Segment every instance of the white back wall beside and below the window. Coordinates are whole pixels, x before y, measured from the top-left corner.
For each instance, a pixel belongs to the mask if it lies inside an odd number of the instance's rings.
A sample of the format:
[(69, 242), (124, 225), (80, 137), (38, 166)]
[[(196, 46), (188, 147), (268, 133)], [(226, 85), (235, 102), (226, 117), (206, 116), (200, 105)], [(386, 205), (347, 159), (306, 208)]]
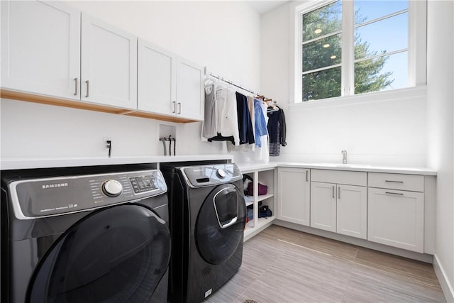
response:
[[(287, 146), (279, 159), (426, 166), (426, 92), (292, 104), (294, 3), (262, 16), (262, 92), (279, 101)], [(290, 105), (289, 105), (290, 104)]]

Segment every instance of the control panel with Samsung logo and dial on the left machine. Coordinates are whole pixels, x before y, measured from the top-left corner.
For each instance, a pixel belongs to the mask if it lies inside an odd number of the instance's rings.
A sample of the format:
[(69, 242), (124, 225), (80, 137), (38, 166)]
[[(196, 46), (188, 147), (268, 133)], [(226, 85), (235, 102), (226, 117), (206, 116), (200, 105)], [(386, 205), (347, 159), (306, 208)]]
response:
[(167, 192), (160, 170), (18, 180), (9, 188), (18, 219), (136, 202)]

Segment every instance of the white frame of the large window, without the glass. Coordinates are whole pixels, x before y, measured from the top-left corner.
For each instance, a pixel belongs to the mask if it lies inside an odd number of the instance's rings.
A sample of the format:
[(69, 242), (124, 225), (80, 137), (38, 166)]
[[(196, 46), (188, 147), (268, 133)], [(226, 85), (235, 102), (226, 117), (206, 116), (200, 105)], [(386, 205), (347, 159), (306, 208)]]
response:
[[(342, 62), (341, 62), (341, 97), (332, 97), (327, 99), (316, 99), (309, 101), (302, 101), (302, 16), (304, 13), (309, 13), (315, 9), (319, 9), (328, 4), (332, 4), (337, 0), (308, 0), (303, 4), (294, 4), (293, 20), (294, 26), (291, 31), (294, 31), (294, 48), (293, 50), (294, 60), (293, 67), (293, 79), (294, 81), (290, 84), (290, 96), (294, 96), (294, 104), (310, 104), (316, 101), (333, 101), (338, 104), (339, 100), (342, 99), (353, 99), (361, 102), (365, 99), (376, 99), (373, 97), (375, 94), (384, 94), (389, 96), (389, 92), (399, 91), (399, 95), (402, 92), (411, 91), (415, 87), (426, 85), (426, 0), (409, 0), (409, 24), (408, 24), (408, 82), (409, 85), (402, 89), (388, 89), (379, 92), (367, 92), (362, 94), (354, 94), (354, 41), (353, 33), (355, 30), (354, 24), (354, 2), (351, 0), (342, 0), (343, 16), (348, 14), (350, 18), (342, 18)], [(399, 1), (399, 0), (397, 0)], [(292, 64), (291, 63), (291, 64)], [(411, 92), (410, 92), (411, 94)], [(371, 96), (371, 97), (370, 97)], [(359, 98), (362, 97), (362, 98)], [(292, 103), (292, 102), (291, 102)], [(350, 103), (350, 102), (349, 102)]]

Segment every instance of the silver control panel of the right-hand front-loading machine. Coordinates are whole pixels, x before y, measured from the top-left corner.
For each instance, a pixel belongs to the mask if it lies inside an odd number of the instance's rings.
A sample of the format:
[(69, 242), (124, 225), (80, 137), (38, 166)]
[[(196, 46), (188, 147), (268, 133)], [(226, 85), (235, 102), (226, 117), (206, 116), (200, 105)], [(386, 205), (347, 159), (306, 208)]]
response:
[(205, 187), (243, 179), (234, 163), (181, 167), (181, 171), (189, 187)]

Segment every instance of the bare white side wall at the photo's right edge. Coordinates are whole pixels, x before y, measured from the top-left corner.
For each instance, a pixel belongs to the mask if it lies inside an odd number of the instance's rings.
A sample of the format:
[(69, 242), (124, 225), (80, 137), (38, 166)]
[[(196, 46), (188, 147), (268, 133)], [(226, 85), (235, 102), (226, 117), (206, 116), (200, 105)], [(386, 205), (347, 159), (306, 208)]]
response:
[(448, 302), (454, 302), (453, 16), (453, 1), (428, 1), (428, 165), (438, 170), (436, 262)]

